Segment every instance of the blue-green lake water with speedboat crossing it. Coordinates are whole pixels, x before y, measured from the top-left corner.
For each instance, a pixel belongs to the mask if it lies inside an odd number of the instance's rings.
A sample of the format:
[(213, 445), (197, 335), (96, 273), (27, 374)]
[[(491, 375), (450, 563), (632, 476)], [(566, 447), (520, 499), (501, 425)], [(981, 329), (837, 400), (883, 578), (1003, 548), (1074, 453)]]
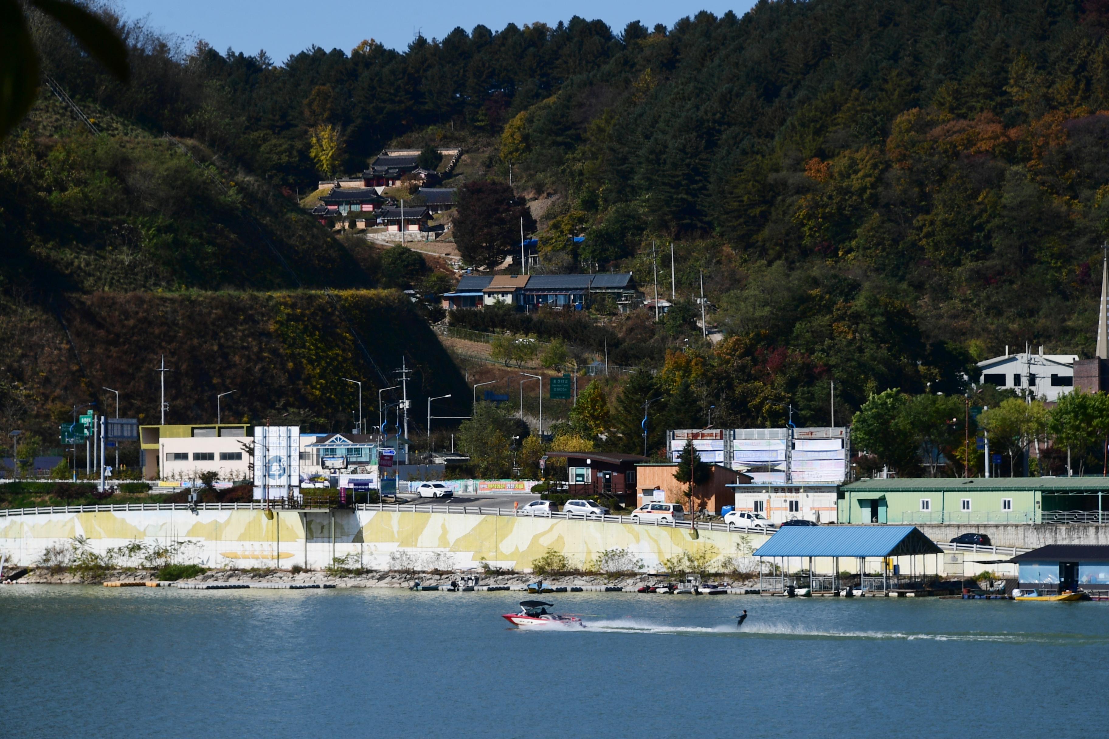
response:
[[(0, 736), (1079, 737), (1109, 604), (0, 588)], [(535, 597), (535, 596), (532, 596)], [(750, 613), (736, 632), (734, 616)]]

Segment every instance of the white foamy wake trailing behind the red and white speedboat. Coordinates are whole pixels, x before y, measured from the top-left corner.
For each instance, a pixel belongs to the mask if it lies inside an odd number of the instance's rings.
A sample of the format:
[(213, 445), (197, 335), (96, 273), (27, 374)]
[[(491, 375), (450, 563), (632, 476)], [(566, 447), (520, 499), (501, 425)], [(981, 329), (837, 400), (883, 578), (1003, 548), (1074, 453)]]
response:
[(736, 628), (734, 623), (718, 626), (678, 626), (660, 624), (650, 620), (617, 618), (608, 620), (587, 620), (587, 632), (611, 632), (623, 634), (693, 634), (721, 635), (742, 638), (784, 638), (784, 639), (843, 639), (868, 642), (988, 642), (997, 644), (1065, 644), (1065, 645), (1109, 645), (1109, 637), (1087, 634), (1036, 634), (1009, 632), (991, 634), (985, 632), (965, 632), (948, 634), (929, 634), (912, 632), (878, 632), (878, 630), (835, 630), (806, 628), (793, 624), (751, 623)]

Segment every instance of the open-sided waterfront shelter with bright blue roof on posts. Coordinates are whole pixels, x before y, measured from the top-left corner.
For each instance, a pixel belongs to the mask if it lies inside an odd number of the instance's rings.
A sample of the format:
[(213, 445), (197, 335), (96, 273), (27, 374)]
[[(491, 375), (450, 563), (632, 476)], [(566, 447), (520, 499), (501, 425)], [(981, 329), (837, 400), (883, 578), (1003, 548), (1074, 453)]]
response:
[[(814, 592), (838, 591), (840, 561), (844, 557), (856, 561), (864, 591), (888, 591), (892, 583), (912, 582), (927, 574), (929, 554), (935, 555), (933, 572), (938, 574), (942, 553), (916, 526), (783, 526), (755, 550), (754, 556), (759, 557), (759, 588), (763, 592), (780, 592), (791, 585)], [(894, 562), (903, 557), (908, 558), (908, 573), (903, 572), (901, 562)], [(767, 560), (769, 576), (764, 567)], [(796, 560), (800, 566), (791, 577), (790, 566)], [(881, 562), (881, 573), (868, 575), (867, 565), (873, 567), (874, 560)], [(825, 568), (825, 574), (817, 575), (815, 568), (821, 564), (831, 565), (831, 573)]]

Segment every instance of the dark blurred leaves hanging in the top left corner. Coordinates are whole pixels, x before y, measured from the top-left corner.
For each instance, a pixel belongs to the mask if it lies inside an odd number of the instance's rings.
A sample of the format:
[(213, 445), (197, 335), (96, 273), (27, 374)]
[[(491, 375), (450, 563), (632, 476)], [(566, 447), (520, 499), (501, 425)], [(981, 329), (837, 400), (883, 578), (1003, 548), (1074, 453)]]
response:
[[(128, 48), (100, 18), (64, 0), (30, 4), (69, 30), (121, 82), (131, 78)], [(23, 120), (39, 91), (39, 57), (19, 0), (0, 0), (0, 138)]]

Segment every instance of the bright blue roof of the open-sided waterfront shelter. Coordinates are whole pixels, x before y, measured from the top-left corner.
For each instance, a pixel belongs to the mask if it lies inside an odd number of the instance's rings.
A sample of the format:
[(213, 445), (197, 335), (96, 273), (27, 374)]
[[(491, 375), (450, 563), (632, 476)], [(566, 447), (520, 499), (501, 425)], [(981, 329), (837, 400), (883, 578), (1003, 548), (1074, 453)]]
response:
[(943, 552), (916, 526), (783, 526), (756, 557), (896, 557)]

